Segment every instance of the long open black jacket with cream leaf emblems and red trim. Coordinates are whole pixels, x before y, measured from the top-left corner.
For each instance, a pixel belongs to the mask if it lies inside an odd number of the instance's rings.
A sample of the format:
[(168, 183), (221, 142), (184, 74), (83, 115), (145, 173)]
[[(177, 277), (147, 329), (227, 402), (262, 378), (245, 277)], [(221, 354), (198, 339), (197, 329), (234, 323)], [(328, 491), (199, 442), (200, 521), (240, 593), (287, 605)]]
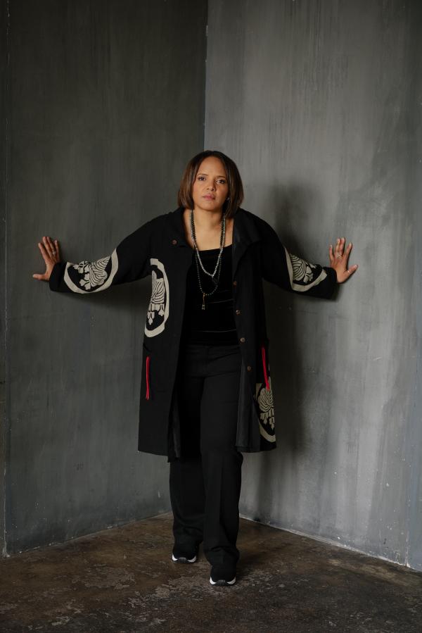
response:
[[(182, 207), (158, 215), (122, 240), (111, 255), (94, 262), (59, 262), (51, 290), (91, 294), (151, 275), (151, 301), (143, 337), (138, 450), (180, 455), (174, 383), (184, 316), (186, 274), (193, 249), (186, 241)], [(274, 229), (238, 208), (234, 215), (232, 280), (234, 318), (243, 357), (236, 446), (240, 451), (274, 449), (274, 403), (262, 279), (290, 292), (328, 299), (337, 282), (333, 268), (288, 253)]]

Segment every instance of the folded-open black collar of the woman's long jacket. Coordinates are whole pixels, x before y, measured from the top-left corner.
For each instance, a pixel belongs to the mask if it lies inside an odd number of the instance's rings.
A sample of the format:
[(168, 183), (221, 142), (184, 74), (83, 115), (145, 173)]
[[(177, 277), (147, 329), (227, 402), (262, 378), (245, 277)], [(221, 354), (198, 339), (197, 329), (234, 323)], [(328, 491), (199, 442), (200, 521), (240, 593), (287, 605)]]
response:
[[(184, 232), (183, 221), (184, 207), (180, 206), (174, 211), (168, 213), (170, 223), (170, 239), (177, 239), (177, 246), (184, 246), (190, 251), (193, 251), (191, 246), (186, 241)], [(238, 211), (234, 215), (233, 225), (233, 249), (232, 249), (232, 272), (233, 277), (236, 275), (236, 270), (243, 253), (253, 242), (258, 242), (261, 239), (260, 233), (257, 230), (256, 224), (253, 221), (253, 215), (250, 211), (239, 207)]]

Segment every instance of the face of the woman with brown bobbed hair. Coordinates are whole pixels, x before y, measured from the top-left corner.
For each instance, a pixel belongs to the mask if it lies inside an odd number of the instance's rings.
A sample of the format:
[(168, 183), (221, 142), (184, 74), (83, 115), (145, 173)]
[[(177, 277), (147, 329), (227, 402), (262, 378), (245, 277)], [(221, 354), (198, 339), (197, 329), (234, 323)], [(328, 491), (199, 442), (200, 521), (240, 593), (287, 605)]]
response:
[(224, 165), (217, 156), (207, 156), (199, 165), (192, 187), (193, 203), (203, 211), (222, 211), (229, 195)]

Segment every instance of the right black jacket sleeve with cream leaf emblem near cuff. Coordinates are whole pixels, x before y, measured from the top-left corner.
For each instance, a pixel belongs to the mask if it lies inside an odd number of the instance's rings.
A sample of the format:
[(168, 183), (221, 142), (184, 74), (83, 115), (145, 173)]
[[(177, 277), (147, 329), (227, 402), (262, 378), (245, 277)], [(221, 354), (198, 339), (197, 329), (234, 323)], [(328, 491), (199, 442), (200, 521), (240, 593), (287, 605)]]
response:
[(289, 253), (271, 225), (262, 222), (262, 277), (289, 292), (330, 299), (337, 285), (335, 270)]

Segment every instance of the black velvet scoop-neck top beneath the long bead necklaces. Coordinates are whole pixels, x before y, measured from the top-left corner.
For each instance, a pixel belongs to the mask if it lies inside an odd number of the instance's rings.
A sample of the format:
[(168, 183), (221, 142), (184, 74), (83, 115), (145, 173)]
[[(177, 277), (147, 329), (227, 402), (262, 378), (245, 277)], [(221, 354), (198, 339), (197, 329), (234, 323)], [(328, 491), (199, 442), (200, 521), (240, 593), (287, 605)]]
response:
[[(219, 249), (199, 251), (205, 270), (213, 272)], [(206, 345), (232, 345), (238, 343), (236, 323), (233, 313), (233, 287), (231, 283), (231, 244), (224, 246), (222, 268), (218, 287), (211, 295), (205, 295), (205, 310), (202, 309), (203, 296), (198, 284), (196, 255), (192, 251), (192, 263), (186, 277), (186, 301), (181, 341)], [(204, 292), (211, 292), (214, 285), (211, 277), (205, 275), (198, 262), (200, 284)]]

